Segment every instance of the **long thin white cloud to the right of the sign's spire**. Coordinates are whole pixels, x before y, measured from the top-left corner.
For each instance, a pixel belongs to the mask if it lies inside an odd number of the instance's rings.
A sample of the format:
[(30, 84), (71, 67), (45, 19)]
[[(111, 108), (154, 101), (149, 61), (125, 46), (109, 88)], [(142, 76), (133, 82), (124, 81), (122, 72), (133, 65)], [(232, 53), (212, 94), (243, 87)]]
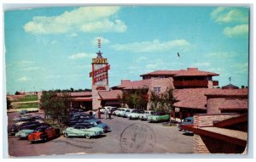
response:
[(116, 51), (128, 51), (131, 53), (159, 53), (169, 51), (173, 48), (186, 49), (191, 47), (191, 45), (186, 40), (179, 39), (167, 42), (160, 42), (159, 40), (152, 42), (132, 42), (127, 44), (115, 44), (111, 47)]

